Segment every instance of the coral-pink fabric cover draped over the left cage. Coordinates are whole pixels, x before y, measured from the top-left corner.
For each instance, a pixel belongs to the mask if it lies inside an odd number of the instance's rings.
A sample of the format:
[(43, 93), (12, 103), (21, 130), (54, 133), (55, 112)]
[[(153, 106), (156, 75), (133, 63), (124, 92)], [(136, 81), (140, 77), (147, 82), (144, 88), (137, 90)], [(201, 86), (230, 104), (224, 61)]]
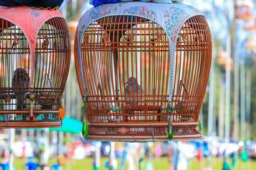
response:
[[(58, 10), (34, 10), (24, 6), (7, 7), (0, 6), (0, 18), (8, 20), (12, 24), (17, 25), (25, 34), (28, 39), (30, 48), (30, 68), (31, 72), (29, 77), (31, 78), (30, 86), (33, 88), (34, 85), (34, 71), (35, 71), (35, 48), (36, 48), (36, 36), (42, 25), (54, 17), (61, 17), (60, 11)], [(20, 17), (22, 16), (22, 17)], [(1, 25), (1, 29), (10, 27), (8, 23)], [(0, 30), (1, 30), (0, 29)], [(3, 30), (1, 30), (3, 31)]]

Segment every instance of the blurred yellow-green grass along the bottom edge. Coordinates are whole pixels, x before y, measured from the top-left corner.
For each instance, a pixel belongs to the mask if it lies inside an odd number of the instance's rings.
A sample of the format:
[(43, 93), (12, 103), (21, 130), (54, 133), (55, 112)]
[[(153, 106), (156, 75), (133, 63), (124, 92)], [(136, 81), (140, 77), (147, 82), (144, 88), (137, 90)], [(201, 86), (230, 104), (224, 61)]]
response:
[[(108, 158), (104, 157), (101, 159), (101, 170), (107, 170), (107, 168), (104, 167), (105, 162), (108, 160)], [(23, 170), (25, 169), (24, 164), (27, 160), (22, 159), (15, 159), (15, 168), (17, 170)], [(147, 159), (143, 160), (142, 162), (142, 169), (145, 169), (147, 164)], [(197, 170), (197, 169), (203, 169), (204, 167), (207, 167), (207, 159), (204, 159), (204, 162), (201, 164), (196, 159), (191, 159), (189, 163), (189, 169), (188, 170)], [(56, 163), (56, 160), (50, 160), (49, 165), (52, 165)], [(231, 160), (228, 162), (231, 165)], [(170, 164), (168, 163), (167, 157), (161, 157), (157, 159), (152, 160), (152, 164), (154, 167), (154, 170), (169, 170)], [(223, 159), (221, 158), (211, 158), (209, 159), (209, 164), (211, 165), (213, 170), (222, 170), (223, 165)], [(120, 159), (118, 159), (118, 167), (120, 165)], [(230, 166), (231, 167), (231, 166)], [(39, 169), (39, 168), (38, 168)], [(91, 170), (93, 169), (93, 158), (86, 158), (83, 160), (72, 160), (72, 162), (68, 162), (66, 166), (62, 168), (63, 170)], [(117, 168), (119, 169), (119, 168)], [(127, 169), (127, 168), (125, 168)], [(248, 162), (244, 163), (241, 160), (237, 160), (237, 166), (235, 168), (231, 169), (237, 169), (237, 170), (254, 170), (256, 169), (256, 161), (255, 160), (248, 160)]]

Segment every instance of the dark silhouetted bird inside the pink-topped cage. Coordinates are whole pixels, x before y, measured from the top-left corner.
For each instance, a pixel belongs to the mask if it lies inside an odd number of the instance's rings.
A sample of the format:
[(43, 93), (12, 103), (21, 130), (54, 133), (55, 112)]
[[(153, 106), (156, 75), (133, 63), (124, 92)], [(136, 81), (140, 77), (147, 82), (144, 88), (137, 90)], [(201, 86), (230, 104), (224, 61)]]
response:
[(26, 93), (29, 90), (30, 78), (26, 69), (17, 68), (13, 72), (12, 78), (12, 90), (17, 99), (17, 110), (23, 110), (26, 108)]

